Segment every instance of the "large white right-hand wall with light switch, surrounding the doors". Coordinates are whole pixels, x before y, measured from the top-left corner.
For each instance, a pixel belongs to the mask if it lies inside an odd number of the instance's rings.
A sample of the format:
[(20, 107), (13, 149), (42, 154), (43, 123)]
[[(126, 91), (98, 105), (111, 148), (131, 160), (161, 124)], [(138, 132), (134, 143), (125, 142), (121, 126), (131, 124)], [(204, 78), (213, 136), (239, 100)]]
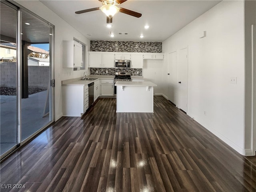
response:
[[(207, 36), (199, 38), (203, 31)], [(165, 40), (163, 52), (186, 46), (188, 115), (245, 154), (244, 1), (220, 2)]]

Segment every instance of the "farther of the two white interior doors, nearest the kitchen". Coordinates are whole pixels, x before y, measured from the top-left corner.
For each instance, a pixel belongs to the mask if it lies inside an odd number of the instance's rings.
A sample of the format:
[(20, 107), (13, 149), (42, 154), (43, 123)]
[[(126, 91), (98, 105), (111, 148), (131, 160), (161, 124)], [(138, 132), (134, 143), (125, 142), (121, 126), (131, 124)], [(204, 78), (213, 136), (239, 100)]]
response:
[(178, 66), (177, 52), (168, 54), (168, 99), (174, 104), (178, 104)]

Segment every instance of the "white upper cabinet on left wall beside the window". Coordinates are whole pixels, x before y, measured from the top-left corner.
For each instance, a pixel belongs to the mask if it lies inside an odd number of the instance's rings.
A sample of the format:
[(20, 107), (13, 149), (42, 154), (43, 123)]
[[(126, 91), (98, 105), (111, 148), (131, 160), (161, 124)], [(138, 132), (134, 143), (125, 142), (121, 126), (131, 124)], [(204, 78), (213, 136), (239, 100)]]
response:
[(63, 67), (82, 67), (82, 44), (76, 41), (63, 41)]

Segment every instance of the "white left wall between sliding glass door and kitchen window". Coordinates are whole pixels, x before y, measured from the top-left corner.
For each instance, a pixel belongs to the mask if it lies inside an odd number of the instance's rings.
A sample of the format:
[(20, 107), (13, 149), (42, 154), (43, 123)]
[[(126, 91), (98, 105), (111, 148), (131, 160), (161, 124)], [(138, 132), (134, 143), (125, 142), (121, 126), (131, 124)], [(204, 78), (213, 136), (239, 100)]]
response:
[(55, 48), (54, 48), (54, 75), (55, 75), (55, 120), (62, 117), (62, 88), (61, 81), (66, 79), (82, 77), (84, 70), (73, 71), (72, 68), (62, 68), (62, 41), (73, 40), (76, 38), (80, 42), (90, 48), (90, 40), (83, 36), (80, 32), (70, 26), (67, 22), (62, 20), (58, 15), (52, 12), (49, 8), (44, 6), (38, 0), (15, 0), (24, 8), (30, 10), (34, 14), (40, 16), (44, 20), (50, 22), (55, 26)]

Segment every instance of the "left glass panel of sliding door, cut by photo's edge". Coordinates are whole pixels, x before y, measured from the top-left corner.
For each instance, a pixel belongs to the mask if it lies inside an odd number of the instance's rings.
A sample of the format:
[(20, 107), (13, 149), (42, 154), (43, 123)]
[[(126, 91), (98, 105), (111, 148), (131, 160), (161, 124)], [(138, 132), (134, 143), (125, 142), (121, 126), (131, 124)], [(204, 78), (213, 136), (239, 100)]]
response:
[(0, 151), (17, 145), (17, 16), (18, 9), (0, 6)]

